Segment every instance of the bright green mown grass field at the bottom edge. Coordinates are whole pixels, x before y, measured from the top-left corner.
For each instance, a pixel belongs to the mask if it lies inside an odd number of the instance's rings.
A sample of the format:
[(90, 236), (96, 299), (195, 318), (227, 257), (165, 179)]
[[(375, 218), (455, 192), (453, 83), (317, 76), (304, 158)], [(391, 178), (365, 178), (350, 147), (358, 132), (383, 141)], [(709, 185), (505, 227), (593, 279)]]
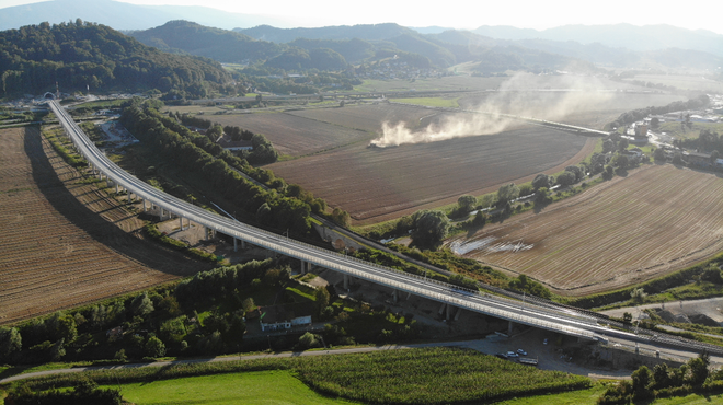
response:
[[(117, 389), (117, 385), (105, 385)], [(126, 401), (141, 404), (355, 404), (317, 394), (290, 371), (256, 371), (122, 384)]]

